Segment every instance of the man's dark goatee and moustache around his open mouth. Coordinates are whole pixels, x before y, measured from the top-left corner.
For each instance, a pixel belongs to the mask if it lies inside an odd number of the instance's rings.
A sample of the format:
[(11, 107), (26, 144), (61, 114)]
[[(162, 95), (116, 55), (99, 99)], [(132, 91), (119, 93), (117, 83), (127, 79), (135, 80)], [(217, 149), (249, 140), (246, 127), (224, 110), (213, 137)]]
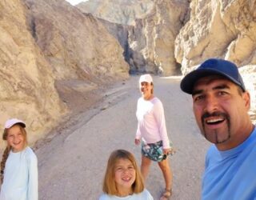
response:
[[(208, 139), (207, 137), (207, 134), (206, 134), (206, 128), (205, 128), (205, 118), (210, 118), (210, 117), (222, 117), (222, 118), (225, 118), (226, 119), (226, 122), (227, 122), (227, 137), (222, 139), (222, 140), (219, 140), (218, 138), (218, 130), (212, 130), (214, 131), (214, 133), (210, 133), (210, 134), (214, 134), (215, 136), (215, 142), (213, 142), (214, 144), (221, 144), (223, 142), (226, 142), (227, 140), (230, 139), (230, 136), (231, 136), (231, 132), (230, 132), (230, 117), (229, 115), (227, 114), (224, 114), (224, 113), (221, 113), (221, 112), (214, 112), (212, 114), (209, 114), (208, 112), (206, 112), (205, 114), (202, 115), (202, 118), (201, 118), (201, 122), (202, 122), (202, 134), (204, 135), (204, 137), (210, 141), (210, 139)], [(212, 141), (210, 141), (212, 142)]]

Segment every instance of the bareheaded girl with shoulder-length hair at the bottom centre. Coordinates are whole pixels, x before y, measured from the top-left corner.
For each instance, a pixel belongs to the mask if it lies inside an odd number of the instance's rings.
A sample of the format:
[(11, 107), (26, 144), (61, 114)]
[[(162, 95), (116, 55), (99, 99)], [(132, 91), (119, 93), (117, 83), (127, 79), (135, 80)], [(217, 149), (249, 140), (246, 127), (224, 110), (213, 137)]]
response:
[(126, 150), (110, 154), (99, 200), (153, 200), (144, 183), (134, 155)]

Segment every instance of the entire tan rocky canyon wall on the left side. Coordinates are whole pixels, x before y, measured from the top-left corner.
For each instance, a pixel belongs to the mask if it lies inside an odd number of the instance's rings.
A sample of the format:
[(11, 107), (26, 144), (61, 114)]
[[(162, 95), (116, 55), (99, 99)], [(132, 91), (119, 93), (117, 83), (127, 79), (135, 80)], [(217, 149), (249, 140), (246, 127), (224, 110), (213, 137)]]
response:
[(70, 112), (62, 101), (94, 101), (89, 91), (128, 78), (116, 39), (64, 0), (1, 1), (0, 30), (0, 126), (22, 118), (30, 142)]

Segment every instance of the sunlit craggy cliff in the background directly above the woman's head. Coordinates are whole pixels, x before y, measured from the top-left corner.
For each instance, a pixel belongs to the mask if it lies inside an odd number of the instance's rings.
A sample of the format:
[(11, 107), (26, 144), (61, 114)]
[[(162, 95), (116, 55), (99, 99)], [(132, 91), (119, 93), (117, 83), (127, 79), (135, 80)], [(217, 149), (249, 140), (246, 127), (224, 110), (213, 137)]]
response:
[(186, 17), (187, 6), (187, 1), (154, 1), (150, 14), (136, 21), (129, 43), (138, 70), (178, 74), (180, 66), (174, 59), (174, 40)]

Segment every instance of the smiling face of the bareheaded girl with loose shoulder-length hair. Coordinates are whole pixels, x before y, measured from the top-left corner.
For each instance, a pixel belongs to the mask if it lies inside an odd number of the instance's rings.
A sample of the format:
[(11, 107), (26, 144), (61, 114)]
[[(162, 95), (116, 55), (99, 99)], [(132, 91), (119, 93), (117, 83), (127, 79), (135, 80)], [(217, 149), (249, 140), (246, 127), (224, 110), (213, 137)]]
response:
[(129, 159), (119, 159), (114, 166), (114, 181), (118, 192), (129, 192), (136, 178), (136, 173), (132, 162)]

